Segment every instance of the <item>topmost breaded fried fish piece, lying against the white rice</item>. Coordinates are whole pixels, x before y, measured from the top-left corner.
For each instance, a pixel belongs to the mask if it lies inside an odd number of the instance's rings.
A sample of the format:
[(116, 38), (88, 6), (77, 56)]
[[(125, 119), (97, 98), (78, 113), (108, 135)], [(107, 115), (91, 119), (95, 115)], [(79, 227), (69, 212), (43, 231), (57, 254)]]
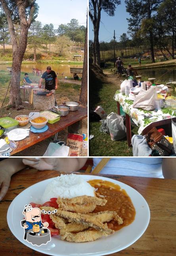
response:
[(107, 200), (105, 198), (98, 198), (96, 196), (77, 196), (74, 198), (57, 198), (59, 208), (65, 211), (77, 212), (86, 214), (93, 212), (97, 205), (105, 205)]

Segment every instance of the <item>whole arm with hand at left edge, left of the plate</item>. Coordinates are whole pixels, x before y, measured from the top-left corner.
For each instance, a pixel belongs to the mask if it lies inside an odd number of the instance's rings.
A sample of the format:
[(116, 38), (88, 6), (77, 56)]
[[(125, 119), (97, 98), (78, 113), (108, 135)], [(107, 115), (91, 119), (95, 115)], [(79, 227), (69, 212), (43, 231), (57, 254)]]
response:
[(11, 176), (25, 167), (22, 158), (7, 158), (0, 161), (0, 201), (8, 191)]

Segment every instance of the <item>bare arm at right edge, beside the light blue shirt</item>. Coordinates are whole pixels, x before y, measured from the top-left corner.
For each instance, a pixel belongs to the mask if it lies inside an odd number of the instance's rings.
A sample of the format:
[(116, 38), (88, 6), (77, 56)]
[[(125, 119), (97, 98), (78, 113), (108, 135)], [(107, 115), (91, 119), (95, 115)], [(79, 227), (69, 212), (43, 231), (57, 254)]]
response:
[(162, 171), (165, 179), (176, 179), (176, 158), (163, 158)]

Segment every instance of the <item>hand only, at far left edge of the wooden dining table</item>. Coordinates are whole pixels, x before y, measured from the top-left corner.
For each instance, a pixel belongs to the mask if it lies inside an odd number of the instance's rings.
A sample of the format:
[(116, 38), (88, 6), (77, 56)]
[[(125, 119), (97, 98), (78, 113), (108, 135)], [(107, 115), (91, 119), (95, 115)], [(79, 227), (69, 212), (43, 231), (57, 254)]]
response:
[(6, 195), (10, 185), (11, 175), (7, 170), (0, 171), (0, 201)]

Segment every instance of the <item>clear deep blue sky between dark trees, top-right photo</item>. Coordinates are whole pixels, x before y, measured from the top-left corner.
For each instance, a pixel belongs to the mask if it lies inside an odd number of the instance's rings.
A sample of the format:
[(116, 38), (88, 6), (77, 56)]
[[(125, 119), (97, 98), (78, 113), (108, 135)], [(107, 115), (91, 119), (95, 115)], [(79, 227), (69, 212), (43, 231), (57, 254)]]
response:
[[(119, 38), (123, 33), (127, 33), (128, 31), (128, 21), (126, 18), (129, 18), (129, 13), (126, 12), (124, 0), (121, 0), (121, 5), (116, 6), (116, 11), (114, 16), (109, 16), (103, 10), (101, 11), (101, 21), (99, 28), (99, 42), (105, 41), (110, 42), (114, 36), (117, 42), (119, 42)], [(93, 25), (92, 21), (89, 19), (89, 39), (93, 40)], [(130, 37), (128, 35), (128, 37)]]

